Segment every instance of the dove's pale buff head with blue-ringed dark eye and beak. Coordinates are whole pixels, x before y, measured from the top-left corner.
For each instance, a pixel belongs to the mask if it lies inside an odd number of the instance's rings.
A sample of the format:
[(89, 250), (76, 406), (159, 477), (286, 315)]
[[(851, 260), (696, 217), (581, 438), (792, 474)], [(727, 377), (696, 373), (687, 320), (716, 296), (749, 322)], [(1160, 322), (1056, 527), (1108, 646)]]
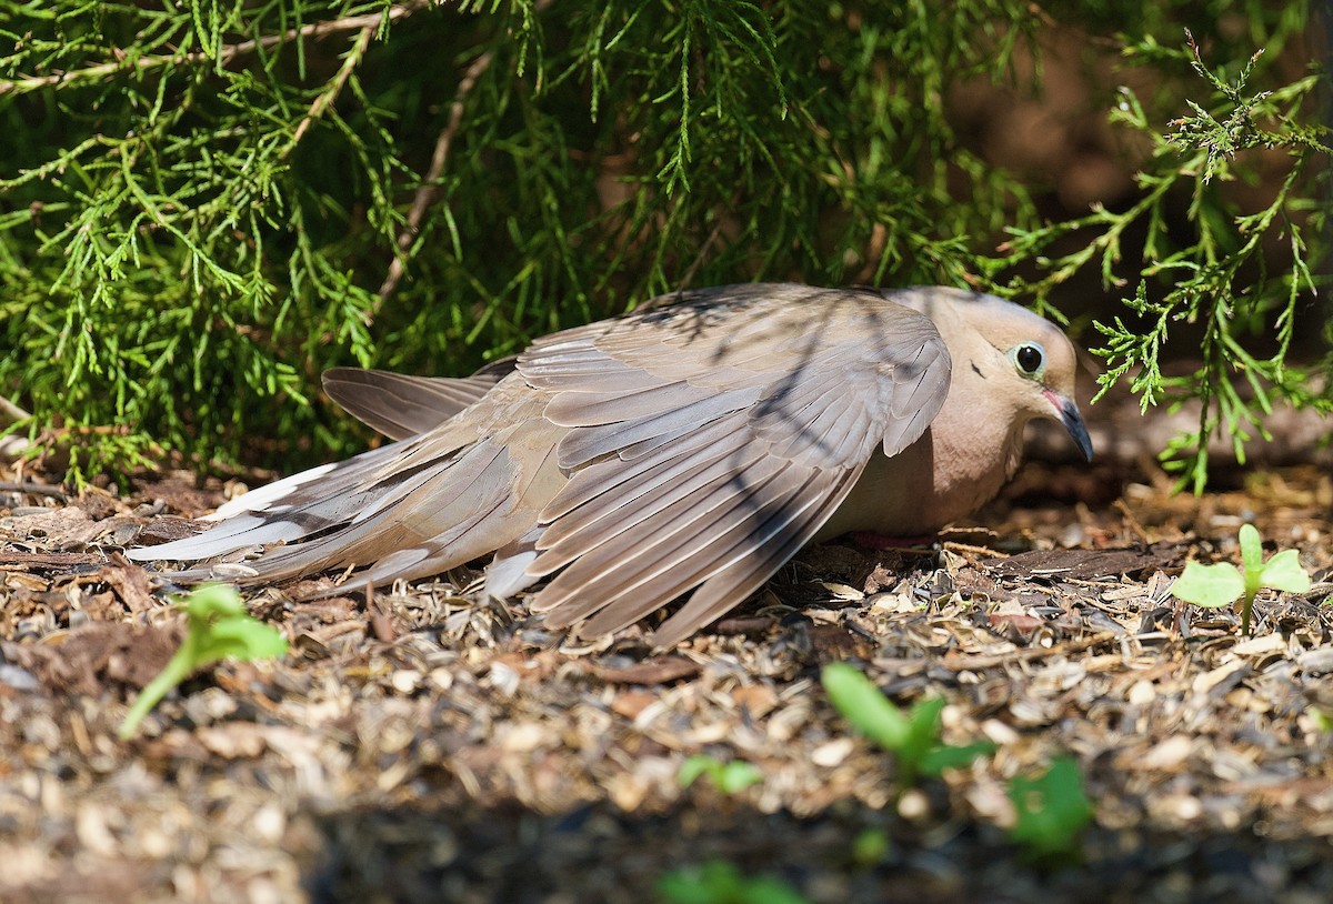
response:
[(1012, 301), (961, 289), (909, 289), (889, 297), (934, 321), (953, 359), (950, 395), (976, 393), (978, 412), (1006, 409), (1020, 424), (1057, 420), (1092, 460), (1092, 440), (1074, 401), (1078, 351), (1056, 324)]

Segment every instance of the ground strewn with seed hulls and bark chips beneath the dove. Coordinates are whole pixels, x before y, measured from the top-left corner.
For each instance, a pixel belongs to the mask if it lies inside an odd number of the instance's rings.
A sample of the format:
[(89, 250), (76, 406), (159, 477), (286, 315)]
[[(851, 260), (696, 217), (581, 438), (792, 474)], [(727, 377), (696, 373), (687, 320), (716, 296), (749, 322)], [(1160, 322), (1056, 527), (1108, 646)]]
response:
[[(128, 743), (183, 616), (120, 551), (231, 488), (0, 480), (11, 904), (651, 901), (706, 864), (830, 904), (1333, 889), (1326, 468), (1214, 475), (1193, 497), (1152, 465), (1032, 465), (984, 527), (924, 551), (806, 549), (668, 653), (641, 628), (577, 643), (521, 600), (480, 604), (467, 569), (315, 603), (267, 588), (249, 609), (291, 653), (205, 668)], [(1238, 560), (1244, 521), (1316, 580), (1261, 593), (1250, 637), (1169, 595), (1186, 560)], [(893, 757), (821, 688), (834, 660), (902, 707), (942, 696), (944, 740), (994, 753), (900, 793)], [(698, 753), (761, 777), (682, 788)], [(1006, 788), (1065, 755), (1094, 816), (1069, 859), (1033, 861)]]

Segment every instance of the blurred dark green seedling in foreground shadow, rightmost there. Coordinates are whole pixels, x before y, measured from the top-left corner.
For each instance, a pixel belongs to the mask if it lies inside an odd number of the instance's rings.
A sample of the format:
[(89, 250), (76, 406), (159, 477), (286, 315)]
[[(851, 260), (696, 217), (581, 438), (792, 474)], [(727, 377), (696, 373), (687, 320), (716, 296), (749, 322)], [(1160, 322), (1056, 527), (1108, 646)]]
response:
[(1017, 815), (1009, 837), (1022, 845), (1030, 861), (1054, 865), (1078, 859), (1078, 839), (1093, 808), (1073, 759), (1054, 760), (1036, 779), (1014, 776), (1009, 800)]

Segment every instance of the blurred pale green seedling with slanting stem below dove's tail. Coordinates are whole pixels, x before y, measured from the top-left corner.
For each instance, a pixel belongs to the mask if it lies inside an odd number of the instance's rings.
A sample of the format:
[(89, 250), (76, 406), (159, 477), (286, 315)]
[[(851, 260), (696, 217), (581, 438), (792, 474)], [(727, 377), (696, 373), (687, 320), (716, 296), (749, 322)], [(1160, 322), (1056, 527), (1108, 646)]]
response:
[(228, 656), (249, 660), (287, 653), (283, 635), (247, 615), (235, 588), (205, 584), (177, 605), (185, 611), (185, 640), (167, 667), (139, 693), (120, 725), (120, 740), (133, 737), (143, 717), (195, 669)]

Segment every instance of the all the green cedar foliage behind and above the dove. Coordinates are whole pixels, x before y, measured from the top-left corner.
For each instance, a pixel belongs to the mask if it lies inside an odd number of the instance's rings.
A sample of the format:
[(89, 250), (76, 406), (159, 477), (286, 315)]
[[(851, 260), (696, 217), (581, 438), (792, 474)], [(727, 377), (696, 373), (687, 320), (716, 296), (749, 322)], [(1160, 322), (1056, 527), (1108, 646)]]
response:
[[(1205, 431), (1326, 404), (1285, 339), (1242, 343), (1289, 336), (1316, 281), (1320, 76), (1269, 64), (1308, 5), (1162, 7), (0, 0), (0, 399), (76, 479), (163, 449), (291, 471), (364, 441), (312, 404), (329, 365), (461, 373), (681, 285), (1045, 301), (1100, 268), (1158, 324), (1098, 327), (1146, 401), (1202, 395)], [(1156, 141), (1128, 209), (1048, 223), (1044, 187), (950, 119), (961, 85), (1018, 84), (1044, 29), (1154, 72), (1152, 97), (1105, 97)], [(1258, 213), (1217, 192), (1257, 147), (1292, 160)], [(1250, 265), (1273, 236), (1289, 260)], [(1217, 325), (1206, 379), (1170, 384), (1182, 319)], [(1256, 401), (1214, 381), (1233, 365)]]

